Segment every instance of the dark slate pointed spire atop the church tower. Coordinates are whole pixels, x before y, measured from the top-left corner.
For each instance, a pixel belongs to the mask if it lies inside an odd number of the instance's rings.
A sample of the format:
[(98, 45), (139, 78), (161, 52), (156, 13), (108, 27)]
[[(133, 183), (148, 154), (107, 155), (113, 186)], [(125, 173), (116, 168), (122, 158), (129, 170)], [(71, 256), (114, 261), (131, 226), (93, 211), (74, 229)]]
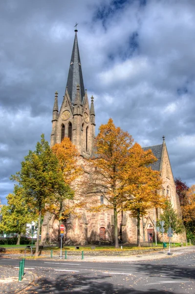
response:
[(74, 45), (72, 49), (70, 67), (66, 84), (66, 87), (68, 87), (67, 90), (72, 101), (72, 104), (74, 104), (74, 100), (76, 98), (77, 85), (80, 86), (81, 101), (83, 101), (83, 97), (85, 96), (85, 88), (83, 83), (83, 74), (81, 69), (81, 60), (77, 41), (77, 29), (75, 29)]

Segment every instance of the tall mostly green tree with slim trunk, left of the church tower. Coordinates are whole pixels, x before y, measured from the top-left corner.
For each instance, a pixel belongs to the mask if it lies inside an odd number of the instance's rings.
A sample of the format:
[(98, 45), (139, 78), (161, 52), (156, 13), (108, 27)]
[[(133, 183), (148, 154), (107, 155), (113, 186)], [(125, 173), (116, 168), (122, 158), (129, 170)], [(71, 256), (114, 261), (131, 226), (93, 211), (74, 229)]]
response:
[(12, 179), (23, 188), (26, 202), (38, 213), (37, 245), (35, 255), (39, 252), (41, 218), (46, 203), (50, 203), (58, 193), (66, 193), (63, 174), (59, 161), (49, 144), (41, 136), (35, 151), (29, 151), (22, 161), (22, 168)]

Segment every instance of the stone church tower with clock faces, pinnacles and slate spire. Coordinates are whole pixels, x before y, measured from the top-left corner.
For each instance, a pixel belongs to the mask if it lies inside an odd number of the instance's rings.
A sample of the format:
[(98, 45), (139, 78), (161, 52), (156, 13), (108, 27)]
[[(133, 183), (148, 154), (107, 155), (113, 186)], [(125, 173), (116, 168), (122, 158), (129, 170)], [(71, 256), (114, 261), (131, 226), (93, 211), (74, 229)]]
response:
[(58, 110), (58, 92), (53, 107), (51, 147), (68, 137), (77, 147), (81, 156), (91, 155), (95, 138), (95, 110), (93, 96), (89, 108), (87, 90), (84, 88), (77, 29), (70, 59), (65, 96)]

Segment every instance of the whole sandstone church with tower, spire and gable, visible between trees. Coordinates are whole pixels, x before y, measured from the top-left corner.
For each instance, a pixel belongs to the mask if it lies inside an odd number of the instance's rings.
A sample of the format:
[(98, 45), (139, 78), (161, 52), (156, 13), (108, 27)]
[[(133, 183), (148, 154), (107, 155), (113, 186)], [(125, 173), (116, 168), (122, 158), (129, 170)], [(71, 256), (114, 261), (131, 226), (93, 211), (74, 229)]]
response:
[[(68, 137), (77, 147), (80, 161), (85, 162), (90, 158), (95, 138), (95, 109), (93, 96), (90, 107), (87, 98), (87, 90), (84, 88), (81, 59), (79, 54), (77, 29), (70, 59), (69, 72), (65, 88), (65, 96), (62, 105), (58, 107), (58, 93), (55, 93), (55, 101), (52, 117), (51, 147), (61, 143), (64, 137)], [(163, 142), (159, 145), (144, 147), (151, 149), (157, 161), (152, 169), (159, 171), (163, 180), (161, 193), (167, 196), (173, 208), (181, 217), (179, 198), (176, 194), (173, 172), (169, 155), (163, 136)], [(100, 203), (104, 203), (103, 196), (99, 196)], [(147, 216), (140, 220), (141, 241), (154, 241), (155, 221), (160, 215), (160, 209), (151, 209)], [(64, 221), (65, 233), (63, 243), (67, 245), (87, 244), (113, 244), (114, 240), (114, 216), (111, 210), (101, 212), (80, 211), (81, 217), (69, 217)], [(164, 234), (167, 235), (167, 234)], [(58, 242), (59, 221), (50, 213), (46, 213), (42, 225), (42, 244), (55, 244)], [(130, 217), (128, 212), (118, 215), (118, 236), (124, 244), (135, 244), (137, 241), (137, 221)], [(173, 242), (185, 240), (185, 233), (173, 235)], [(158, 236), (161, 240), (161, 235)], [(166, 241), (166, 236), (165, 236)]]

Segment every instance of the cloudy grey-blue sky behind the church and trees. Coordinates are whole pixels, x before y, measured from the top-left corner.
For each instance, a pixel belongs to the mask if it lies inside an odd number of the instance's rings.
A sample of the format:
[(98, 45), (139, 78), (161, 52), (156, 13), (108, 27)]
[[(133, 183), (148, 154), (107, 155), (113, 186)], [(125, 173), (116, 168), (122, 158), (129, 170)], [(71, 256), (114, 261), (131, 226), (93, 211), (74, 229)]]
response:
[(78, 26), (96, 134), (111, 117), (142, 147), (165, 136), (174, 177), (195, 184), (194, 0), (0, 1), (0, 199), (45, 134), (50, 141)]

